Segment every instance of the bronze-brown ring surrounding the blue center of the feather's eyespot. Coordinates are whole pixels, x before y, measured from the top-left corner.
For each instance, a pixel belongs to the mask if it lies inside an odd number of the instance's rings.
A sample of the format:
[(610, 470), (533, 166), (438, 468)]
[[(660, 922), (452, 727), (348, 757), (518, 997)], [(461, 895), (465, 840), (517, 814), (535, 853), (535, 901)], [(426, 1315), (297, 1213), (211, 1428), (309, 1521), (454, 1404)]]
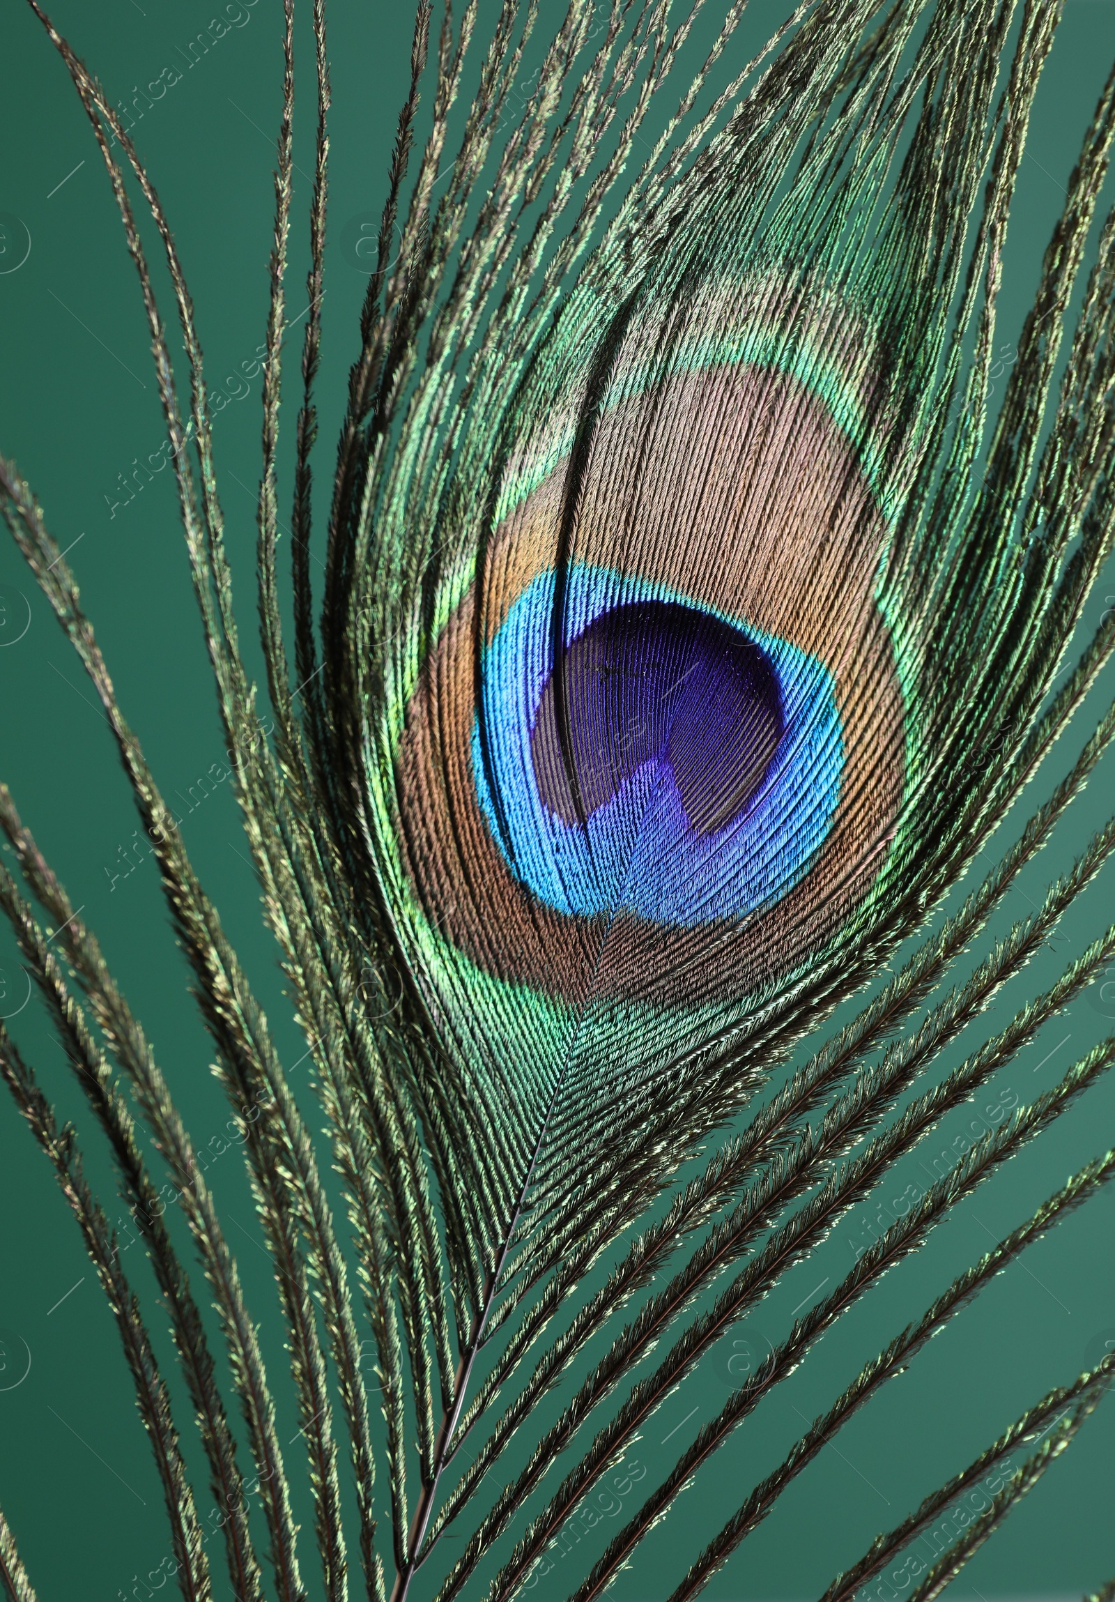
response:
[[(569, 559), (638, 574), (790, 641), (831, 673), (844, 740), (836, 814), (806, 875), (742, 923), (666, 928), (554, 912), (492, 839), (473, 775), (476, 641), (551, 572), (564, 463), (500, 524), (410, 700), (397, 795), (426, 915), (489, 972), (570, 1003), (740, 998), (801, 963), (868, 892), (904, 785), (904, 702), (875, 604), (884, 522), (852, 447), (798, 380), (756, 365), (684, 373), (596, 429)], [(607, 960), (601, 947), (607, 940)]]

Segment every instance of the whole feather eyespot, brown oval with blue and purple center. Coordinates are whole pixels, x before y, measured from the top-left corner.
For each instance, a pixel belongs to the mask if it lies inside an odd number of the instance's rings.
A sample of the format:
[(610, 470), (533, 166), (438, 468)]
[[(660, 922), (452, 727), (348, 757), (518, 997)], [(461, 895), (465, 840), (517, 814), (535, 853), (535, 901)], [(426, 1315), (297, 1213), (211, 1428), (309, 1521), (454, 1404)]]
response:
[(871, 894), (894, 835), (863, 381), (731, 335), (674, 341), (654, 381), (620, 362), (577, 442), (564, 417), (508, 453), (399, 743), (429, 923), (574, 1004), (665, 1003), (681, 974), (686, 1004), (756, 992)]

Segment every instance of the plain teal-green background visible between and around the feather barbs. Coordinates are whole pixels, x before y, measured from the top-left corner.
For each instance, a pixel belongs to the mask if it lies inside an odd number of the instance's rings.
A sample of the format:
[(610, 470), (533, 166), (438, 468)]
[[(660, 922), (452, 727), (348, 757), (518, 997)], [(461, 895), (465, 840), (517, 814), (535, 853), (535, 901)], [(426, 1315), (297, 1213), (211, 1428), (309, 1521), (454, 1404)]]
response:
[[(264, 336), (280, 93), (280, 0), (252, 5), (234, 0), (234, 10), (247, 21), (232, 27), (192, 69), (184, 67), (178, 51), (210, 21), (210, 6), (199, 0), (101, 0), (96, 8), (59, 0), (53, 13), (117, 103), (133, 85), (157, 80), (171, 64), (183, 74), (144, 111), (135, 138), (176, 231), (213, 388), (242, 362), (250, 364)], [(226, 8), (219, 11), (224, 14)], [(489, 13), (490, 6), (482, 10), (481, 35)], [(734, 59), (743, 59), (745, 48), (771, 32), (782, 14), (782, 0), (756, 5), (734, 46)], [(561, 6), (543, 0), (543, 22), (556, 24), (559, 16)], [(364, 287), (343, 247), (346, 240), (351, 247), (362, 215), (375, 215), (381, 205), (410, 48), (405, 6), (335, 0), (330, 18), (333, 179), (319, 471), (325, 471), (336, 437)], [(702, 22), (705, 38), (713, 22), (714, 8)], [(300, 45), (295, 215), (301, 219), (300, 208), (309, 200), (306, 175), (312, 152), (306, 16), (300, 19)], [(1033, 293), (1041, 250), (1112, 59), (1115, 6), (1107, 0), (1069, 0), (1019, 183), (1003, 292), (1004, 341), (1017, 333)], [(143, 461), (163, 439), (135, 272), (85, 114), (42, 26), (21, 0), (5, 0), (0, 8), (0, 122), (5, 152), (0, 213), (21, 219), (30, 240), (27, 260), (8, 271), (6, 264), (22, 252), (22, 235), (6, 221), (0, 256), (5, 376), (0, 449), (14, 457), (32, 482), (59, 545), (72, 546), (69, 559), (125, 714), (163, 793), (183, 801), (186, 846), (252, 974), (284, 1061), (295, 1064), (304, 1045), (290, 1020), (276, 950), (261, 924), (234, 798), (227, 785), (202, 783), (221, 761), (223, 742), (170, 474), (154, 476), (128, 503), (119, 487), (133, 460)], [(149, 227), (146, 239), (151, 247)], [(304, 264), (304, 229), (298, 226), (288, 276), (292, 319), (306, 306)], [(163, 316), (173, 322), (162, 271), (157, 287)], [(176, 338), (171, 346), (178, 346)], [(292, 340), (292, 381), (298, 351)], [(239, 577), (240, 628), (253, 666), (258, 666), (252, 578), (258, 389), (258, 378), (247, 388), (232, 376), (224, 380), (229, 400), (215, 421), (229, 554)], [(284, 415), (287, 444), (295, 400), (292, 386)], [(11, 541), (6, 535), (3, 540), (0, 772), (13, 785), (24, 819), (74, 904), (83, 908), (83, 920), (99, 934), (195, 1137), (205, 1144), (208, 1131), (224, 1129), (227, 1109), (208, 1072), (207, 1036), (187, 995), (186, 968), (173, 944), (154, 862), (133, 852), (138, 823), (80, 666)], [(282, 546), (280, 556), (285, 557)], [(1093, 598), (1086, 626), (1094, 626), (1109, 604), (1115, 604), (1115, 574)], [(1089, 716), (1094, 721), (1113, 690), (1109, 674), (1078, 719), (1077, 732), (1062, 742), (1032, 788), (1035, 804), (1073, 758)], [(1032, 910), (1048, 879), (1067, 867), (1086, 836), (1107, 819), (1113, 774), (1109, 756), (1054, 844), (1024, 876), (995, 932)], [(1012, 817), (1008, 831), (1019, 822)], [(1001, 844), (1006, 835), (993, 849)], [(985, 859), (990, 865), (988, 854)], [(1004, 1022), (1027, 992), (1048, 984), (1072, 952), (1105, 928), (1112, 920), (1113, 883), (1110, 868), (1097, 878), (1065, 920), (1053, 950), (1041, 953), (1020, 984), (998, 1000), (985, 1020), (988, 1027)], [(0, 936), (0, 966), (5, 987), (0, 1012), (16, 1012), (26, 980), (6, 934)], [(1112, 1016), (1115, 1004), (1104, 1009), (1096, 1004), (1096, 992), (1089, 992), (1003, 1070), (996, 1091), (1025, 1101), (1048, 1088), (1112, 1028)], [(37, 1003), (22, 1008), (11, 1027), (61, 1112), (75, 1118), (90, 1173), (103, 1197), (112, 1198), (109, 1165)], [(293, 1070), (300, 1094), (304, 1073), (304, 1064)], [(993, 1099), (987, 1096), (987, 1102)], [(317, 1126), (312, 1097), (304, 1105)], [(956, 1129), (963, 1121), (953, 1120)], [(1113, 1131), (1115, 1080), (1093, 1091), (1009, 1173), (960, 1208), (926, 1250), (827, 1336), (814, 1358), (676, 1503), (614, 1594), (623, 1602), (665, 1597), (697, 1543), (718, 1530), (755, 1480), (782, 1459), (806, 1421), (830, 1405), (860, 1362), (916, 1317), (992, 1237), (1020, 1222), (1070, 1171), (1113, 1144)], [(918, 1160), (931, 1160), (953, 1134), (952, 1125), (942, 1128), (940, 1141), (928, 1142), (905, 1165), (908, 1173), (897, 1169), (883, 1197), (899, 1197), (920, 1177)], [(247, 1182), (231, 1152), (215, 1169), (215, 1187), (248, 1302), (261, 1323), (285, 1442), (296, 1423), (282, 1328)], [(846, 1272), (852, 1261), (849, 1240), (862, 1235), (876, 1211), (875, 1200), (859, 1208), (747, 1322), (740, 1336), (759, 1347), (763, 1336), (775, 1339), (783, 1333), (791, 1309), (812, 1298), (817, 1282)], [(1115, 1334), (1113, 1238), (1115, 1192), (1109, 1192), (1032, 1248), (916, 1358), (908, 1375), (888, 1386), (843, 1431), (713, 1581), (708, 1596), (719, 1602), (817, 1596), (878, 1530), (904, 1517), (1053, 1384), (1075, 1376), (1089, 1349), (1094, 1362), (1097, 1339)], [(151, 1275), (136, 1264), (138, 1256), (125, 1256), (125, 1269), (135, 1272), (136, 1285), (147, 1294), (159, 1349), (170, 1363)], [(147, 1594), (135, 1576), (155, 1570), (168, 1552), (151, 1453), (74, 1219), (8, 1101), (0, 1102), (0, 1341), (6, 1365), (0, 1370), (0, 1504), (40, 1597), (114, 1602), (119, 1596)], [(26, 1378), (18, 1378), (24, 1352), (30, 1368)], [(671, 1466), (676, 1450), (698, 1424), (719, 1410), (726, 1389), (718, 1368), (724, 1362), (724, 1352), (719, 1360), (706, 1358), (650, 1421), (636, 1448), (649, 1469), (647, 1485)], [(543, 1423), (548, 1416), (540, 1415)], [(184, 1410), (181, 1424), (186, 1432)], [(1115, 1402), (1109, 1399), (1070, 1453), (964, 1570), (955, 1594), (1069, 1596), (1115, 1573), (1113, 1450)], [(195, 1461), (192, 1443), (191, 1453)], [(293, 1448), (288, 1458), (308, 1543), (311, 1511), (303, 1471)], [(205, 1509), (200, 1474), (195, 1483)], [(580, 1552), (590, 1540), (575, 1556), (558, 1560), (530, 1594), (566, 1596), (586, 1567)], [(320, 1578), (309, 1544), (303, 1548), (303, 1572), (311, 1596), (317, 1597)], [(484, 1589), (477, 1578), (468, 1596), (479, 1597)], [(218, 1594), (223, 1594), (219, 1584)], [(889, 1602), (891, 1594), (902, 1592), (881, 1594)]]

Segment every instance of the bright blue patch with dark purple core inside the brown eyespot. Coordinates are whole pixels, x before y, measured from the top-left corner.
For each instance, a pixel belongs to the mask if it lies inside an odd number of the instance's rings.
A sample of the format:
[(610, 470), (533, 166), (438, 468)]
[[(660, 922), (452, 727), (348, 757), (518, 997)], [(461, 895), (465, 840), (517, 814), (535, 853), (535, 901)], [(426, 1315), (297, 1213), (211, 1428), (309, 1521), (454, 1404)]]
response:
[(807, 871), (843, 740), (809, 654), (681, 596), (574, 567), (514, 602), (484, 654), (477, 796), (516, 878), (564, 913), (695, 928)]

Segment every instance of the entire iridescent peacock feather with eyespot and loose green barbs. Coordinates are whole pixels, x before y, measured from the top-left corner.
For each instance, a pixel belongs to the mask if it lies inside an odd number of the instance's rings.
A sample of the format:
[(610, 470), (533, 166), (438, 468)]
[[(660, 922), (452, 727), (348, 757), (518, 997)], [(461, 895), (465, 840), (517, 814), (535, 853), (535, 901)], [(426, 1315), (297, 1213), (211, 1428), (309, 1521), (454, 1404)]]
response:
[[(1101, 1041), (934, 1169), (779, 1344), (732, 1371), (673, 1466), (626, 1474), (622, 1517), (548, 1578), (553, 1543), (631, 1469), (703, 1355), (1115, 960), (1112, 926), (980, 1033), (1115, 846), (1112, 820), (1030, 916), (979, 944), (1115, 734), (1112, 708), (1012, 844), (974, 868), (1115, 647), (1112, 612), (1080, 626), (1115, 540), (1115, 213), (1099, 215), (1115, 74), (992, 405), (1056, 0), (804, 0), (753, 59), (740, 0), (703, 62), (700, 0), (681, 19), (668, 0), (609, 0), (602, 19), (586, 0), (503, 0), (487, 42), (474, 3), (460, 18), (447, 5), (436, 30), (420, 0), (320, 484), (330, 85), (314, 0), (287, 590), (285, 0), (258, 686), (175, 235), (120, 115), (29, 5), (88, 112), (138, 272), (231, 772), (319, 1097), (292, 1089), (66, 554), (3, 461), (8, 527), (104, 708), (159, 862), (290, 1349), (288, 1443), (175, 1086), (2, 790), (0, 902), (144, 1238), (173, 1384), (77, 1134), (3, 1025), (0, 1067), (119, 1323), (173, 1573), (191, 1602), (506, 1602), (540, 1583), (590, 1602), (628, 1564), (639, 1573), (644, 1536), (841, 1315), (1115, 1062)], [(136, 197), (170, 272), (186, 400)], [(694, 1541), (687, 1572), (654, 1575), (655, 1597), (695, 1596), (841, 1426), (1115, 1176), (1105, 1139), (804, 1419), (785, 1461)], [(216, 1320), (163, 1219), (162, 1165)], [(835, 1552), (823, 1602), (867, 1596), (993, 1483), (910, 1592), (936, 1597), (1070, 1445), (1113, 1367), (1097, 1354), (862, 1557)], [(312, 1530), (295, 1512), (303, 1450)], [(3, 1515), (0, 1578), (34, 1602)]]

